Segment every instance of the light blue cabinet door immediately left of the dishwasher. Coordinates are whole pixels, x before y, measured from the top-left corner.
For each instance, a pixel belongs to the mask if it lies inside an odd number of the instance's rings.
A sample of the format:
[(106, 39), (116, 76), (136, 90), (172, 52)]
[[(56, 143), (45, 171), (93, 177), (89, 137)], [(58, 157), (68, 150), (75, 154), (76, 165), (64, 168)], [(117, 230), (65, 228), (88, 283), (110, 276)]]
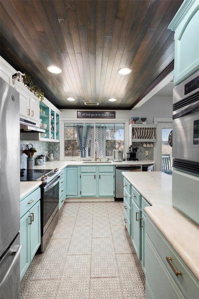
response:
[(99, 196), (114, 196), (113, 173), (99, 173)]

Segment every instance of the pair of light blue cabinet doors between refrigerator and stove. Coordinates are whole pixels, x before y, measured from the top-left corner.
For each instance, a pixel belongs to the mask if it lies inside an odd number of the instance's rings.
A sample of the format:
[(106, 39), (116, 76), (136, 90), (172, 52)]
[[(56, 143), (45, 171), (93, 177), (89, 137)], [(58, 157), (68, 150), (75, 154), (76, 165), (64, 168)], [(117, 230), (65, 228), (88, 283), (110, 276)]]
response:
[(27, 271), (41, 243), (40, 200), (20, 219), (20, 280)]

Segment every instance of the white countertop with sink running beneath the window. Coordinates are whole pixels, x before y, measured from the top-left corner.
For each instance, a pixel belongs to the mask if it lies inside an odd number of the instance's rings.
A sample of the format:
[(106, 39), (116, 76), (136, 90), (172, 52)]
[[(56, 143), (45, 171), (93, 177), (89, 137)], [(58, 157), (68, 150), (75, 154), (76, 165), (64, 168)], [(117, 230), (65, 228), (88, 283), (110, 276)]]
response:
[[(107, 163), (104, 161), (104, 163), (84, 163), (86, 161), (82, 161), (82, 160), (64, 160), (64, 161), (60, 161), (60, 160), (54, 160), (52, 162), (47, 161), (45, 164), (42, 165), (35, 165), (34, 169), (53, 169), (53, 168), (65, 168), (66, 166), (86, 166), (86, 165), (147, 165), (147, 164), (154, 164), (153, 160), (143, 160), (143, 161), (123, 161), (123, 162), (111, 162), (111, 163)], [(89, 162), (87, 160), (87, 162)]]

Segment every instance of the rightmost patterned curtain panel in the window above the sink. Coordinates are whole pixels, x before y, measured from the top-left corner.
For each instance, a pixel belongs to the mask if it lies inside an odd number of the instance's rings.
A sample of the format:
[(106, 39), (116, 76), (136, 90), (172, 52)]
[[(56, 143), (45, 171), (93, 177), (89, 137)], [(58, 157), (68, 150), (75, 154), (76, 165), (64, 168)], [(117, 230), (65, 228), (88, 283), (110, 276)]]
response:
[(97, 157), (104, 158), (106, 156), (106, 127), (95, 128), (95, 139), (96, 139), (96, 149)]

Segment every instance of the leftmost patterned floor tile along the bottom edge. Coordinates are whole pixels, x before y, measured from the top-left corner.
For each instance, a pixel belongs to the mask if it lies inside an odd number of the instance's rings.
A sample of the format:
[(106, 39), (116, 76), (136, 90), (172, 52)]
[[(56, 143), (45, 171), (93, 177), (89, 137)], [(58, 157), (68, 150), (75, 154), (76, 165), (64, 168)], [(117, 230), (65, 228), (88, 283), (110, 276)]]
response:
[(23, 299), (55, 299), (59, 280), (31, 280)]

